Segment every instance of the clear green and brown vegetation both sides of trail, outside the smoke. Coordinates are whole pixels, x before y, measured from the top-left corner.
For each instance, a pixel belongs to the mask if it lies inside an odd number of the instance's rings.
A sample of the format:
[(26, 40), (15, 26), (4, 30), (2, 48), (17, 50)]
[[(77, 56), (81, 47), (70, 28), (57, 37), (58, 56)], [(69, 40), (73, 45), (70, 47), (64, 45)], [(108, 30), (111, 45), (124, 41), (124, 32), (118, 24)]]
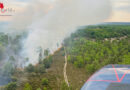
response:
[[(79, 90), (87, 78), (108, 64), (130, 64), (130, 26), (100, 25), (77, 30), (64, 40), (68, 54), (67, 75), (72, 87), (63, 78), (64, 49), (54, 55), (39, 49), (39, 64), (31, 67), (28, 83), (32, 89)], [(42, 55), (46, 56), (44, 60)], [(28, 68), (27, 67), (27, 68)], [(79, 81), (79, 82), (77, 82)]]

